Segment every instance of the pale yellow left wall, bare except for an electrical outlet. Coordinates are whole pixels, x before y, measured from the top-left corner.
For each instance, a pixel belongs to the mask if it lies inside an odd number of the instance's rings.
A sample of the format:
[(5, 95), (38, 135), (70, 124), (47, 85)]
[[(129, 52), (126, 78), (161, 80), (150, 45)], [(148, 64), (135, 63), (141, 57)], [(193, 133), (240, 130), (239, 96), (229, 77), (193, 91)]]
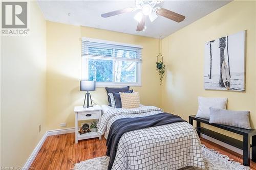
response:
[(1, 37), (2, 166), (23, 166), (46, 132), (46, 21), (29, 10), (28, 36)]

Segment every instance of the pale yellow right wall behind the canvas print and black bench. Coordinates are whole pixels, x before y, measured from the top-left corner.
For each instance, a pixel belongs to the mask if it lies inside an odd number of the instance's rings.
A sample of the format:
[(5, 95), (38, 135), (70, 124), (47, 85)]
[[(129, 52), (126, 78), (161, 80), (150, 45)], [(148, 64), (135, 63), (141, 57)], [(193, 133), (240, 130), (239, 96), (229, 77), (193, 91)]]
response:
[[(224, 97), (228, 109), (250, 110), (251, 126), (256, 127), (255, 9), (255, 1), (234, 1), (162, 40), (167, 65), (162, 88), (165, 111), (188, 119), (197, 113), (198, 96)], [(242, 30), (247, 30), (246, 91), (204, 90), (204, 44)]]

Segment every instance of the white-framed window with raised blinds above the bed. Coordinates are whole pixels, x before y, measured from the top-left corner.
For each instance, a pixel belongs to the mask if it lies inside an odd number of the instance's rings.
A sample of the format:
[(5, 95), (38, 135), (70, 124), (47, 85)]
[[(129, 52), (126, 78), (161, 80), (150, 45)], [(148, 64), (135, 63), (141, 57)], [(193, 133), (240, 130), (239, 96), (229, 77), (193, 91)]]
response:
[(142, 46), (82, 38), (82, 80), (97, 87), (141, 86)]

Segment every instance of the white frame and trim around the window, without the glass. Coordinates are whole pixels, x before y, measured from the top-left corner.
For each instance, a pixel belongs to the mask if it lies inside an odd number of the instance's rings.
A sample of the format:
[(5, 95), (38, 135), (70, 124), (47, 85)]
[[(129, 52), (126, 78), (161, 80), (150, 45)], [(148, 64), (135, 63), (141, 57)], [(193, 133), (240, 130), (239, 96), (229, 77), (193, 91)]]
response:
[[(81, 48), (82, 48), (82, 41), (141, 48), (141, 62), (136, 62), (136, 82), (96, 82), (96, 87), (124, 87), (124, 86), (141, 87), (142, 86), (141, 75), (142, 75), (142, 49), (143, 49), (143, 46), (82, 37), (81, 38)], [(81, 49), (81, 51), (82, 51), (82, 49)], [(103, 59), (103, 60), (111, 60), (113, 62), (115, 62), (115, 61), (136, 61), (136, 59), (132, 59), (132, 58), (131, 59), (127, 59), (127, 58), (121, 59), (121, 58), (117, 58), (117, 57), (99, 57), (99, 56), (98, 57), (96, 57), (96, 56), (86, 57), (86, 56), (83, 56), (81, 53), (81, 80), (89, 79), (88, 78), (89, 59), (98, 59), (98, 60)], [(114, 72), (115, 72), (115, 70), (113, 69), (113, 78), (115, 77)]]

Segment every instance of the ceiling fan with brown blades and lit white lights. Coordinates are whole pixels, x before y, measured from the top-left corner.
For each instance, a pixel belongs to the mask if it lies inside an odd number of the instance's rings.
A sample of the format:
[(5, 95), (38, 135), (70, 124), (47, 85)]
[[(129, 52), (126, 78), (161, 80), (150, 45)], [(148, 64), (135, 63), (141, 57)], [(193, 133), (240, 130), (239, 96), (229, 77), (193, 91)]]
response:
[(122, 13), (133, 12), (135, 10), (140, 10), (134, 17), (139, 23), (136, 31), (144, 31), (146, 16), (150, 18), (153, 22), (158, 15), (166, 17), (168, 19), (174, 20), (176, 22), (181, 22), (185, 19), (185, 16), (169, 11), (164, 8), (155, 7), (157, 4), (161, 3), (163, 0), (136, 0), (136, 6), (131, 8), (124, 8), (108, 13), (101, 14), (103, 18), (119, 15)]

